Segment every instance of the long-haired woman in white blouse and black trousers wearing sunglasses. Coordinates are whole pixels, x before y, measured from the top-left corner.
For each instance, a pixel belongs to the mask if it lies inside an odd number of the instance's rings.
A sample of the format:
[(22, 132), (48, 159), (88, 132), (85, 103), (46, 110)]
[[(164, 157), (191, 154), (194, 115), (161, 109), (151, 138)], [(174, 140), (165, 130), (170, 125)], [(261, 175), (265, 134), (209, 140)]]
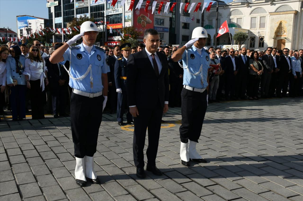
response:
[(45, 60), (41, 57), (37, 46), (32, 46), (29, 49), (23, 74), (25, 75), (27, 88), (31, 89), (32, 119), (43, 119), (45, 118), (43, 107), (44, 88), (48, 85), (48, 79)]

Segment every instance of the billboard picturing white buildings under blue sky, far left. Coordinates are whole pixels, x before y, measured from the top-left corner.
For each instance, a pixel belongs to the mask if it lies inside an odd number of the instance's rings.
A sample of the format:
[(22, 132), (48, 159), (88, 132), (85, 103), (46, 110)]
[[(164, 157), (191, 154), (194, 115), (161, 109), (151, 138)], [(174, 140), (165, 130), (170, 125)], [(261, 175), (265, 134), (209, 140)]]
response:
[(30, 35), (44, 28), (44, 19), (31, 16), (17, 16), (18, 37)]

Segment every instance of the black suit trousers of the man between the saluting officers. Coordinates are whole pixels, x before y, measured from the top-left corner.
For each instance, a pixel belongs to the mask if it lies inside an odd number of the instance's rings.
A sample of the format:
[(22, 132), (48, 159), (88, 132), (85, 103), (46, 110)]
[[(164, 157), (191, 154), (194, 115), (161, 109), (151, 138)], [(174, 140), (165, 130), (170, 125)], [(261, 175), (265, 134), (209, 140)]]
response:
[(143, 149), (146, 129), (148, 128), (148, 147), (146, 150), (148, 165), (156, 164), (163, 108), (160, 101), (154, 109), (138, 109), (139, 115), (134, 117), (135, 131), (133, 139), (134, 163), (137, 168), (144, 167)]

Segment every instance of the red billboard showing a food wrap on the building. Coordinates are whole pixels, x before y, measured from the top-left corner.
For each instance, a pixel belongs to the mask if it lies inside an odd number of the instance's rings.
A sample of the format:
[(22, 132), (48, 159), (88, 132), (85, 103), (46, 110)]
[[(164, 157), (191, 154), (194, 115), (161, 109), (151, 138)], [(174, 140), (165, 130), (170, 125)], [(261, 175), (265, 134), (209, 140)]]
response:
[[(145, 12), (145, 3), (146, 1), (143, 1), (141, 9), (134, 10), (134, 25), (135, 31), (140, 32), (140, 35), (138, 36), (138, 39), (143, 39), (144, 31), (147, 29), (153, 29), (154, 28), (154, 15), (151, 14), (151, 5), (148, 7), (147, 12)], [(135, 1), (135, 5), (138, 4), (138, 1)]]

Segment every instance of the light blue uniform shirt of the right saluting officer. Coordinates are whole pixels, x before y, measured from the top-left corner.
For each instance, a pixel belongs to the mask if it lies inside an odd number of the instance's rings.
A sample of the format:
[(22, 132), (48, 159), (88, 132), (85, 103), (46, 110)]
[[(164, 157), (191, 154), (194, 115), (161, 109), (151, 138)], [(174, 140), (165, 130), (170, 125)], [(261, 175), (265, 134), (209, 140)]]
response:
[[(188, 56), (188, 63), (186, 62), (186, 52)], [(191, 49), (187, 49), (182, 54), (182, 62), (184, 67), (184, 74), (183, 74), (183, 85), (188, 85), (190, 87), (203, 89), (208, 86), (207, 83), (207, 76), (208, 76), (208, 68), (210, 64), (209, 53), (202, 48), (201, 55), (198, 53), (195, 46), (192, 46)], [(199, 71), (201, 64), (202, 71), (198, 75), (191, 75), (195, 74)], [(188, 69), (187, 69), (188, 68)], [(201, 75), (203, 76), (203, 84), (201, 81)]]

